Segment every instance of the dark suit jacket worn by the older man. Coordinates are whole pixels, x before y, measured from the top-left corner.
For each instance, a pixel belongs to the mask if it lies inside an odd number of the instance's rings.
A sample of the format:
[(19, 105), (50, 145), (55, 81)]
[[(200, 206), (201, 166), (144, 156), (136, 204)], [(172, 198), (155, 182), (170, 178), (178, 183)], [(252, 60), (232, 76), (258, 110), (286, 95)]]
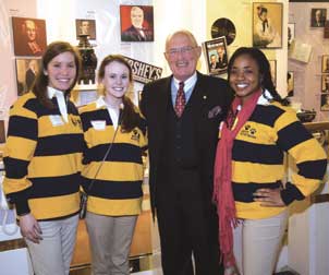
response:
[[(155, 213), (158, 170), (161, 169), (161, 148), (164, 143), (167, 107), (171, 100), (172, 76), (157, 80), (144, 86), (141, 110), (147, 120), (149, 148), (149, 187), (151, 210)], [(198, 144), (198, 170), (200, 175), (203, 198), (205, 203), (211, 204), (212, 174), (218, 128), (226, 117), (232, 100), (224, 80), (197, 73), (197, 82), (193, 94), (197, 100), (193, 105), (193, 116), (196, 129), (196, 144)], [(168, 195), (168, 194), (164, 194)]]

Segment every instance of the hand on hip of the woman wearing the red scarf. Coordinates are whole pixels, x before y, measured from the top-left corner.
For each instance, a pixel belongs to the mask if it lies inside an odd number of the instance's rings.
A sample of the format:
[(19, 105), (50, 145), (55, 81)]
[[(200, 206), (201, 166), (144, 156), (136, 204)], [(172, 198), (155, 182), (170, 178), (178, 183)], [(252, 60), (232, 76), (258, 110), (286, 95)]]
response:
[(281, 199), (281, 189), (258, 189), (254, 193), (254, 201), (255, 202), (261, 202), (260, 206), (267, 206), (267, 207), (282, 207), (285, 206)]

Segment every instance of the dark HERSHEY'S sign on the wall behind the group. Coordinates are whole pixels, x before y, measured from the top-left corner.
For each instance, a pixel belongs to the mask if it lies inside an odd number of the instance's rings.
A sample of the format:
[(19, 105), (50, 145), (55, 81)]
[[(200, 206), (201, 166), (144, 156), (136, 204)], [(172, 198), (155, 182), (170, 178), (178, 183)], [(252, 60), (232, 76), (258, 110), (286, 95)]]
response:
[(124, 57), (133, 71), (133, 80), (146, 84), (161, 77), (162, 68)]

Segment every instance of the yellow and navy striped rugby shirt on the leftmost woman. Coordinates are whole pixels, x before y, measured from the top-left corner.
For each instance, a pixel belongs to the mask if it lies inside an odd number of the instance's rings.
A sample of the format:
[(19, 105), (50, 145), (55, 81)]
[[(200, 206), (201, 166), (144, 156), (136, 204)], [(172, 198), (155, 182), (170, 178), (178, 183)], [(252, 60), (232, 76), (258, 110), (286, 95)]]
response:
[(81, 119), (68, 103), (69, 123), (57, 106), (47, 109), (33, 93), (20, 97), (10, 110), (4, 147), (4, 192), (19, 215), (32, 212), (38, 220), (78, 212), (82, 152)]

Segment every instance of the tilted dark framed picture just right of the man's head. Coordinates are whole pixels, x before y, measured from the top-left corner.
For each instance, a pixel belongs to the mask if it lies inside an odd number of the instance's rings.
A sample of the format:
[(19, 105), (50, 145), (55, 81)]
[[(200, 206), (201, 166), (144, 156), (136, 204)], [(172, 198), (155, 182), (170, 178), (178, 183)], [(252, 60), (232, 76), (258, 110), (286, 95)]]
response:
[(219, 75), (228, 71), (228, 50), (224, 36), (203, 43), (207, 70), (210, 75)]

